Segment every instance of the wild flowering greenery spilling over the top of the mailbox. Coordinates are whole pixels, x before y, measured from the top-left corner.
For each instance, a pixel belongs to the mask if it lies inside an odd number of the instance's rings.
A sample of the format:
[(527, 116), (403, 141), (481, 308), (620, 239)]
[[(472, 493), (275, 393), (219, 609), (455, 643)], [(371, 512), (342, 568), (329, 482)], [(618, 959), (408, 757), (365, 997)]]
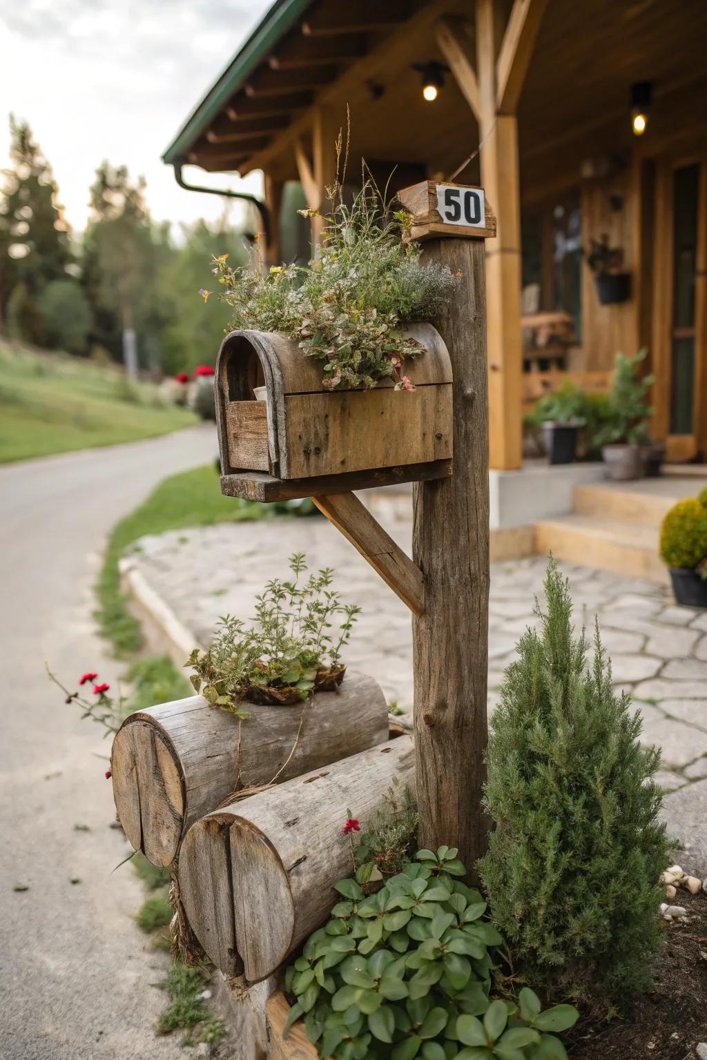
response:
[[(419, 246), (403, 243), (404, 214), (391, 213), (366, 171), (350, 206), (338, 181), (328, 194), (333, 212), (308, 266), (276, 266), (263, 275), (260, 262), (252, 270), (233, 269), (227, 254), (213, 259), (224, 287), (219, 298), (233, 311), (230, 326), (278, 331), (297, 340), (306, 356), (322, 361), (329, 389), (370, 388), (394, 378), (396, 390), (413, 390), (403, 365), (423, 348), (401, 325), (436, 317), (457, 279), (446, 266), (423, 265)], [(201, 294), (206, 299), (210, 292)]]

